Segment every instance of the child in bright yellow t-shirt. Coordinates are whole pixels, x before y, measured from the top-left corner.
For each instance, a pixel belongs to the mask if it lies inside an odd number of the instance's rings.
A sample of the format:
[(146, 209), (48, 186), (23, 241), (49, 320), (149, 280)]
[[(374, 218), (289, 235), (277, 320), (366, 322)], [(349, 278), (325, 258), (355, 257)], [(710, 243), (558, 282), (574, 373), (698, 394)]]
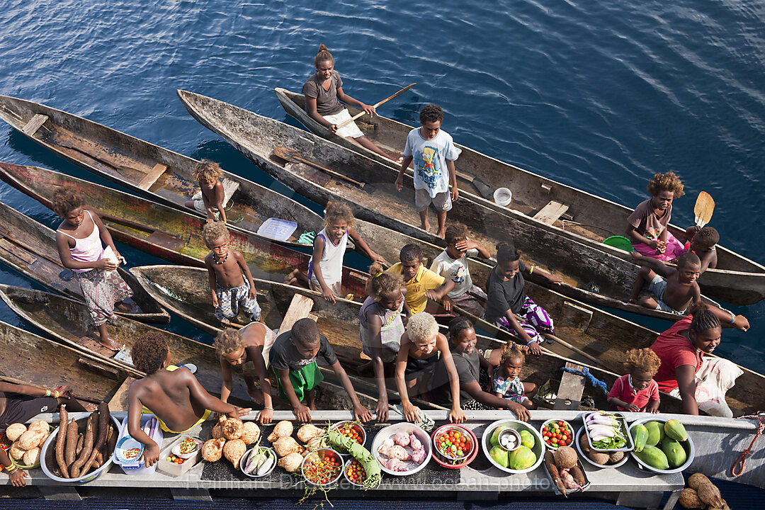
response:
[(421, 313), (428, 306), (428, 298), (442, 300), (444, 310), (451, 311), (449, 291), (454, 288), (454, 281), (435, 274), (422, 265), (422, 249), (418, 245), (405, 245), (399, 252), (399, 262), (392, 265), (388, 272), (401, 274), (406, 286), (405, 301), (409, 313)]

